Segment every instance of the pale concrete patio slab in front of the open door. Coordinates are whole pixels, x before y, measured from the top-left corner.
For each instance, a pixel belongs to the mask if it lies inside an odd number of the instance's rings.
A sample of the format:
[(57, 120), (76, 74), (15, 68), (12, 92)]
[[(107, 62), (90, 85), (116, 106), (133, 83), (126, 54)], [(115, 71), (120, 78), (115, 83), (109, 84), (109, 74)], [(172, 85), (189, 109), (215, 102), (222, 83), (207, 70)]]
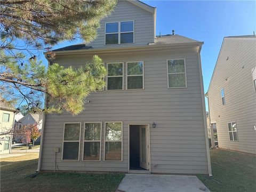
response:
[(116, 192), (210, 192), (193, 175), (126, 174)]

